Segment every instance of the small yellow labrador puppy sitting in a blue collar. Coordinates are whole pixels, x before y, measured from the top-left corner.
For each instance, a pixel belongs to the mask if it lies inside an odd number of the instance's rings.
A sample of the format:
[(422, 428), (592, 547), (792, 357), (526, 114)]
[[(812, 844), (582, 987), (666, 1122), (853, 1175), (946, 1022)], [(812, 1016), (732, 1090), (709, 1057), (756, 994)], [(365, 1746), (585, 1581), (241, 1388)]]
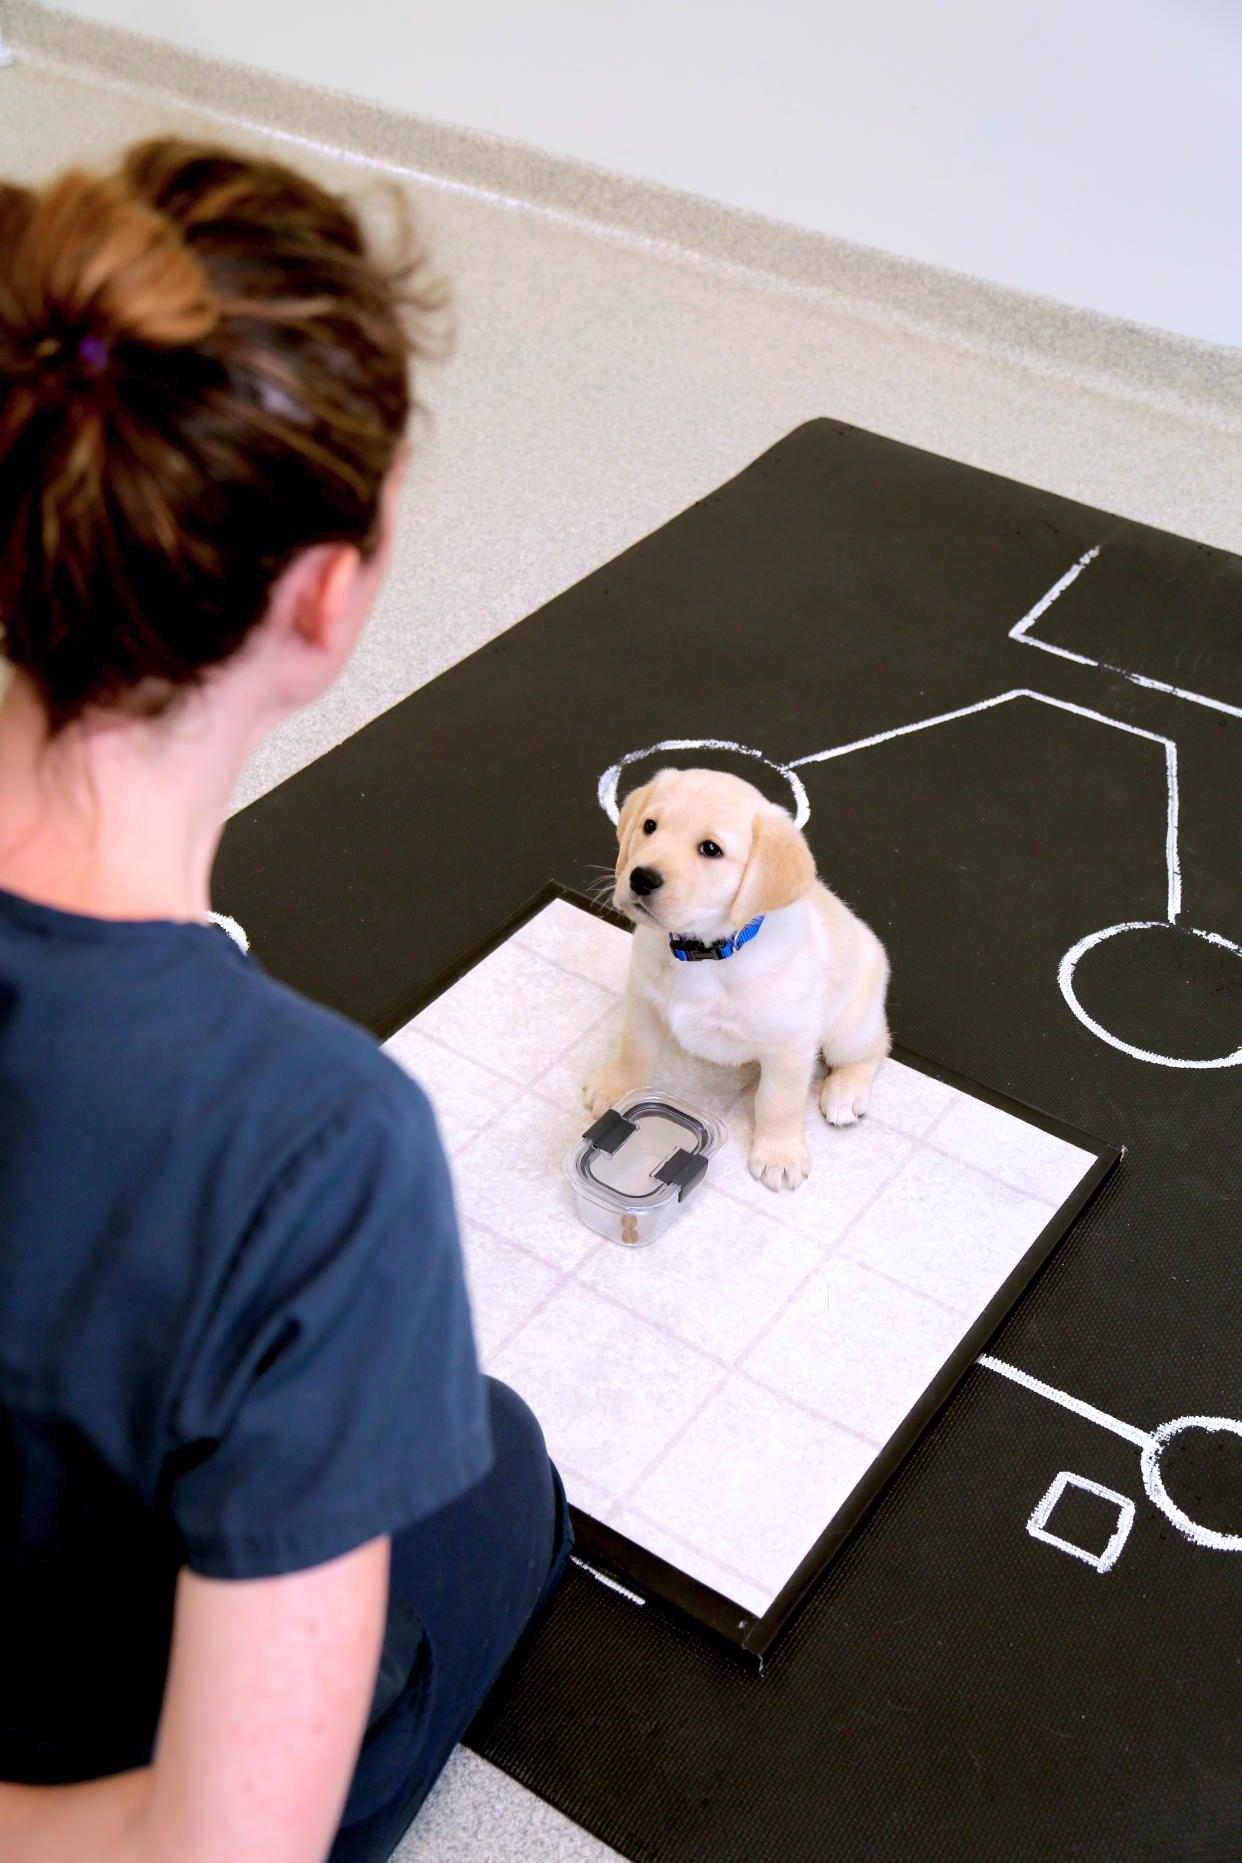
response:
[(750, 1172), (795, 1190), (810, 1170), (816, 1056), (832, 1125), (866, 1112), (888, 1053), (888, 958), (816, 877), (790, 814), (719, 769), (661, 769), (616, 823), (613, 904), (637, 932), (616, 1054), (585, 1088), (592, 1114), (655, 1079), (665, 1032), (689, 1054), (758, 1062)]

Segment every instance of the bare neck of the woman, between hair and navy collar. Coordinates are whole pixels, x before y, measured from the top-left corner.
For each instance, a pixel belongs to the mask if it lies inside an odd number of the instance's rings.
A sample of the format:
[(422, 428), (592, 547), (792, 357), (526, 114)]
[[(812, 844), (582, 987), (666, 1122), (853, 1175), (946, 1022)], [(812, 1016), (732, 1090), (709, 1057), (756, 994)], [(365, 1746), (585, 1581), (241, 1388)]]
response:
[(0, 887), (95, 918), (205, 918), (250, 732), (207, 693), (162, 719), (89, 715), (48, 738), (13, 673), (0, 699)]

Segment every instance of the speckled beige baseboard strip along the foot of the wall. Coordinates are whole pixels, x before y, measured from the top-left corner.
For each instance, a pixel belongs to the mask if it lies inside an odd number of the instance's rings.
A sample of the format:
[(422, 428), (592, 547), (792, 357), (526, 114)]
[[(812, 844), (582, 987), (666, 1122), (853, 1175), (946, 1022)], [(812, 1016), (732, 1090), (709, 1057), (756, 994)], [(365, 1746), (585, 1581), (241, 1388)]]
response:
[(1242, 432), (1242, 348), (901, 259), (529, 143), (84, 20), (39, 0), (4, 0), (0, 22), (13, 54), (32, 63), (175, 99), (236, 127), (577, 222), (670, 259), (745, 274), (938, 343)]

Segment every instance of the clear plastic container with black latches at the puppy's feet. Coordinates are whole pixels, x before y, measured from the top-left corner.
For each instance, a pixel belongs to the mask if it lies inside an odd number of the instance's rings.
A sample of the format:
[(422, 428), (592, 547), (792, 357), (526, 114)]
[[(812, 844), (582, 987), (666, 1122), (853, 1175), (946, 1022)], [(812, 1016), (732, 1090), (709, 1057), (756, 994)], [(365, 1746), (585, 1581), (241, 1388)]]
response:
[(611, 1243), (654, 1243), (702, 1183), (728, 1133), (709, 1112), (639, 1088), (609, 1107), (564, 1161), (583, 1222)]

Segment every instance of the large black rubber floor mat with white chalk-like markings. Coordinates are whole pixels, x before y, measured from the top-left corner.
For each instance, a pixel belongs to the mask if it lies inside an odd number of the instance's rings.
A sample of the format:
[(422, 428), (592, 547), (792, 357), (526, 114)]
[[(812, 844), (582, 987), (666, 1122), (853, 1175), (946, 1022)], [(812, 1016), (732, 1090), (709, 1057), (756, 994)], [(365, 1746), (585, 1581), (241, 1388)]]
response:
[(611, 864), (607, 766), (797, 764), (896, 1036), (1127, 1148), (762, 1677), (572, 1569), (471, 1742), (626, 1856), (1242, 1857), (1242, 1425), (1156, 1435), (1242, 1416), (1240, 673), (1242, 559), (812, 421), (231, 822), (382, 1032)]

